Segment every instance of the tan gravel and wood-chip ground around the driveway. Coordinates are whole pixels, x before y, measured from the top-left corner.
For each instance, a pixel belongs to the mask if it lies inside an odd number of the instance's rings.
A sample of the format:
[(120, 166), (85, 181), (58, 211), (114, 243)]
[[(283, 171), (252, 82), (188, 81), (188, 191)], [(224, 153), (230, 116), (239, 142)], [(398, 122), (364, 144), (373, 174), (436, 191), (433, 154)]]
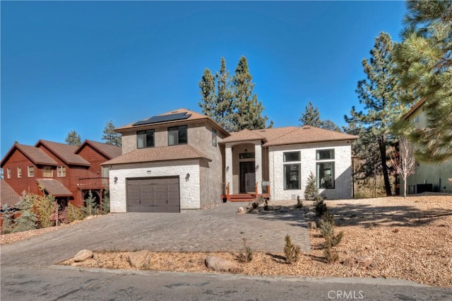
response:
[[(304, 201), (304, 205), (312, 202)], [(278, 202), (280, 205), (281, 202)], [(283, 202), (292, 208), (293, 201)], [(421, 195), (376, 199), (326, 201), (335, 215), (336, 232), (343, 231), (343, 241), (336, 247), (339, 262), (327, 264), (323, 258), (323, 238), (311, 230), (309, 253), (295, 264), (285, 264), (282, 252), (254, 252), (254, 259), (241, 264), (232, 252), (151, 252), (155, 271), (208, 272), (204, 260), (209, 255), (236, 261), (248, 275), (289, 275), (328, 277), (400, 278), (440, 287), (452, 287), (452, 196)], [(60, 226), (60, 227), (65, 227)], [(42, 230), (1, 235), (1, 243), (39, 235)], [(95, 252), (93, 259), (61, 264), (132, 269), (129, 252)], [(373, 266), (362, 269), (341, 264), (347, 257), (363, 256)]]

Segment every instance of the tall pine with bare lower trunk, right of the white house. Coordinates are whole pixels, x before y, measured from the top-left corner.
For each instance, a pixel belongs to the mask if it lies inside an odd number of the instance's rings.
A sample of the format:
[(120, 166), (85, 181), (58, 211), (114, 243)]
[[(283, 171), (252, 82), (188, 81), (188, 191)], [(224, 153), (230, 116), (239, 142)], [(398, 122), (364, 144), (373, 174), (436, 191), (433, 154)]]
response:
[[(374, 48), (371, 49), (370, 59), (363, 59), (362, 66), (367, 79), (358, 82), (357, 95), (359, 102), (364, 105), (366, 113), (352, 109), (352, 116), (345, 117), (345, 121), (352, 123), (355, 129), (366, 133), (369, 142), (376, 143), (380, 157), (380, 167), (383, 174), (386, 195), (391, 196), (389, 182), (387, 146), (391, 142), (391, 124), (400, 118), (405, 107), (398, 102), (401, 94), (398, 78), (394, 72), (393, 49), (395, 43), (388, 33), (380, 33), (375, 38)], [(359, 139), (364, 139), (360, 137)], [(362, 143), (362, 141), (357, 142)], [(367, 159), (369, 153), (363, 155)], [(370, 162), (369, 162), (370, 163)], [(376, 167), (374, 166), (375, 170)]]

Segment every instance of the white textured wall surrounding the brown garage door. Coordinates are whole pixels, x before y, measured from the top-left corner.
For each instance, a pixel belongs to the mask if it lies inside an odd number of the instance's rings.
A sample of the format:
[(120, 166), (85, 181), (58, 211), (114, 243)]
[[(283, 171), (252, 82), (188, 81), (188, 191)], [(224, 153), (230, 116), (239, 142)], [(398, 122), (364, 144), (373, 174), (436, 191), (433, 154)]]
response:
[[(181, 209), (201, 208), (199, 160), (184, 160), (112, 166), (109, 172), (110, 211), (127, 212), (126, 179), (169, 176), (179, 176)], [(114, 177), (118, 178), (116, 184)]]

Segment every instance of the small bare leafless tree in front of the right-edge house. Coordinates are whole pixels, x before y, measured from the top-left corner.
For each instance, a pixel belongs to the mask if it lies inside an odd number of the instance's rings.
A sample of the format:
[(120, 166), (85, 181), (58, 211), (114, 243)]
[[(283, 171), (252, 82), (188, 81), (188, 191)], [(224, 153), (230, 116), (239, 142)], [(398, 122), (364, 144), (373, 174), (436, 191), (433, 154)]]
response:
[(405, 136), (398, 141), (398, 157), (392, 158), (393, 167), (403, 179), (403, 197), (407, 197), (407, 178), (416, 172), (415, 150)]

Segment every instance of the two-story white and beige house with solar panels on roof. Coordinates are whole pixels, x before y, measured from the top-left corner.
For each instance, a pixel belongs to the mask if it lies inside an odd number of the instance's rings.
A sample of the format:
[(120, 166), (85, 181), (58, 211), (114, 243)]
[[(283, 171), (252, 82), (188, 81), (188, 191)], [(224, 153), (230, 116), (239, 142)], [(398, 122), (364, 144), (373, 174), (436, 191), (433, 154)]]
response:
[(349, 199), (357, 136), (290, 126), (228, 133), (206, 115), (174, 110), (115, 131), (122, 155), (109, 168), (112, 212), (179, 212), (256, 196), (303, 197), (310, 172), (330, 199)]

